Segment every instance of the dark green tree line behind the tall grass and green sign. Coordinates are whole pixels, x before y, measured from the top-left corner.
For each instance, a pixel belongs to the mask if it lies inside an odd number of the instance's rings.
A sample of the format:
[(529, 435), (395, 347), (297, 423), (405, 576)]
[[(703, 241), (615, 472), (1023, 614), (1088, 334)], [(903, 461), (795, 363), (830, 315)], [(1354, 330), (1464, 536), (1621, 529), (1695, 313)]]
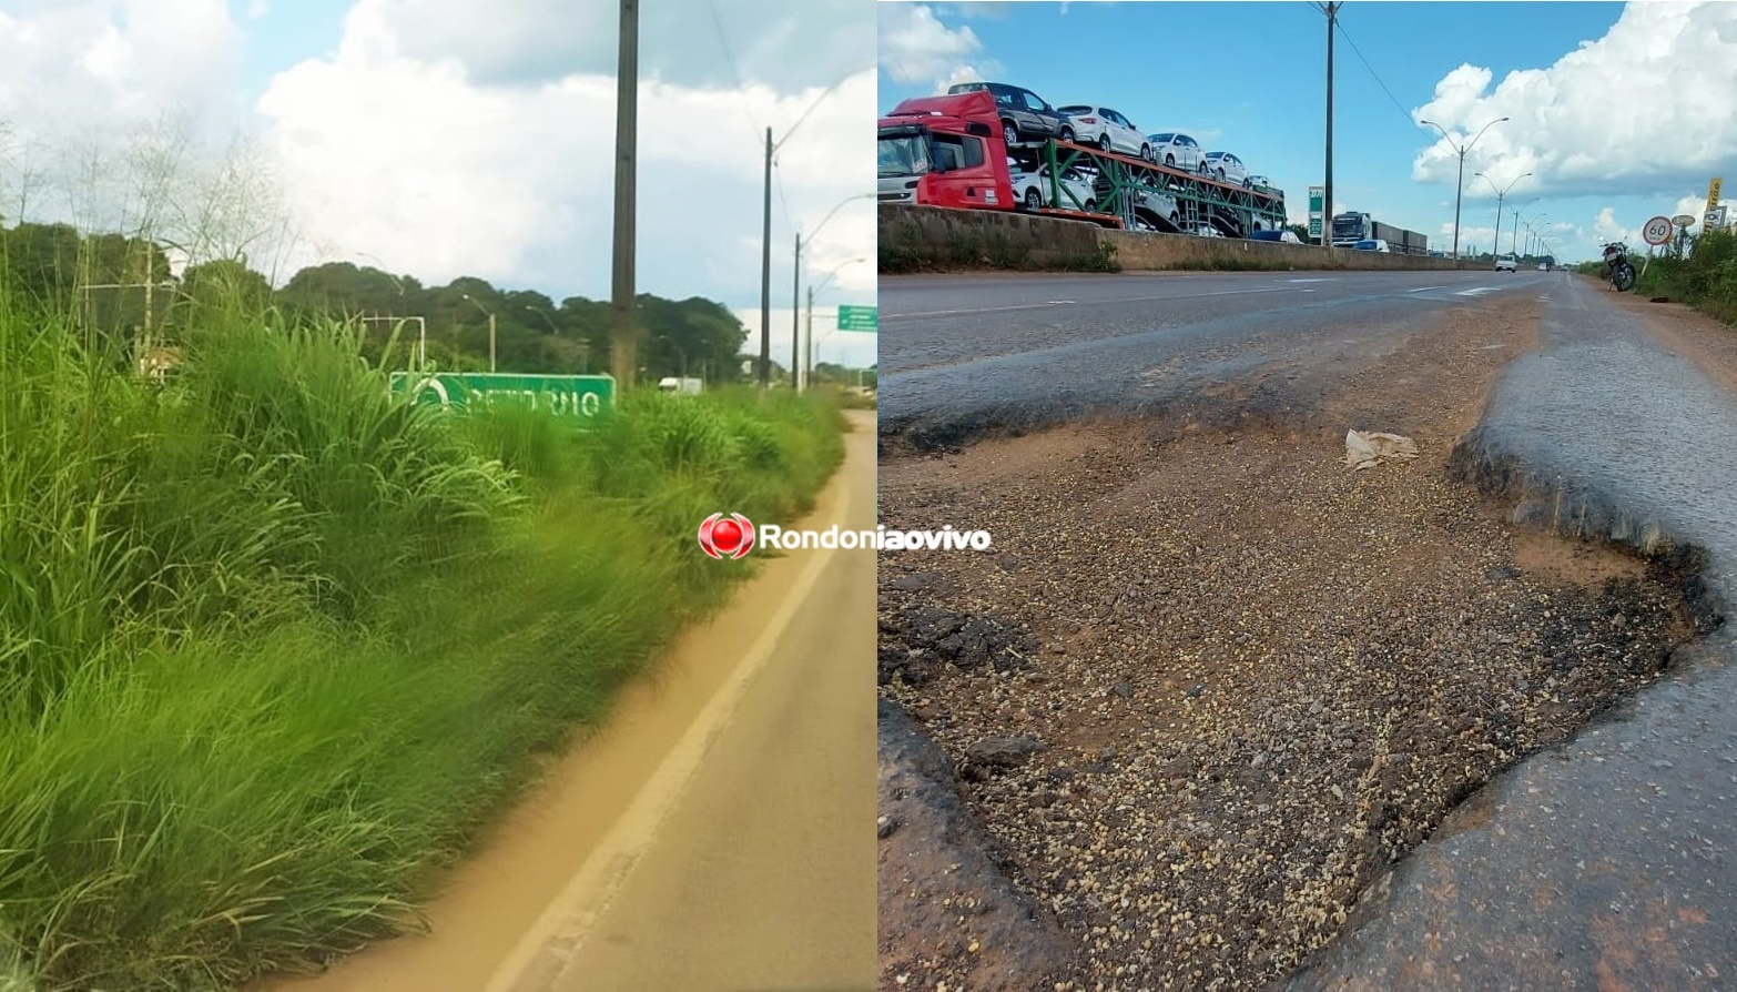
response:
[[(340, 320), (422, 318), (433, 368), (486, 372), (493, 316), (500, 372), (604, 374), (611, 367), (608, 301), (556, 302), (537, 290), (502, 288), (476, 276), (429, 287), (372, 266), (325, 262), (273, 288), (245, 261), (195, 262), (177, 276), (165, 247), (148, 238), (82, 235), (69, 224), (31, 222), (0, 228), (0, 274), (14, 292), (76, 308), (90, 328), (127, 344), (141, 332), (172, 341), (179, 321), (217, 306), (240, 313), (280, 308), (290, 316)], [(743, 379), (747, 328), (724, 304), (639, 294), (636, 323), (634, 360), (644, 379)], [(360, 327), (370, 360), (393, 367), (410, 360), (415, 323), (368, 320)]]

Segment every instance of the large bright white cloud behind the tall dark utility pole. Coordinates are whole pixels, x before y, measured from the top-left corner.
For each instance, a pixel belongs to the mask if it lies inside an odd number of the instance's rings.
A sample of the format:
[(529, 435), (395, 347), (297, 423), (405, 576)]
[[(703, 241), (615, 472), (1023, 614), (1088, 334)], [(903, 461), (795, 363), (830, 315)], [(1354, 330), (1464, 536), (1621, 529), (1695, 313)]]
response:
[[(406, 56), (389, 16), (394, 2), (356, 3), (335, 57), (280, 73), (261, 99), (266, 137), (309, 238), (295, 264), (367, 252), (424, 281), (578, 278), (592, 295), (606, 288), (615, 80), (478, 83), (457, 57)], [(719, 297), (728, 287), (735, 301), (757, 297), (763, 125), (783, 142), (775, 210), (787, 200), (797, 219), (818, 221), (844, 196), (874, 189), (872, 136), (860, 127), (874, 109), (874, 85), (867, 64), (829, 96), (825, 87), (780, 96), (763, 85), (643, 83), (641, 290)], [(872, 202), (839, 208), (809, 257), (872, 254)], [(773, 236), (789, 245), (789, 226), (775, 222)], [(785, 280), (789, 259), (789, 247), (775, 243), (775, 271), (782, 266)], [(698, 274), (707, 285), (693, 285)]]

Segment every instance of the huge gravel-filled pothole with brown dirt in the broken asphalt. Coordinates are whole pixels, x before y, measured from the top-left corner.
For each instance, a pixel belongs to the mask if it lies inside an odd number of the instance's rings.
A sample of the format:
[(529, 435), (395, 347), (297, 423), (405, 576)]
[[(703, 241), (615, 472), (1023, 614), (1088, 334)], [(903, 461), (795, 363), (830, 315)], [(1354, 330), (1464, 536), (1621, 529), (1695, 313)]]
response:
[[(929, 923), (959, 893), (882, 856), (882, 987), (1261, 989), (1496, 771), (1657, 676), (1687, 632), (1671, 577), (1445, 481), (1536, 330), (1530, 301), (1456, 311), (1289, 427), (882, 459), (884, 525), (995, 537), (881, 556), (882, 697), (1067, 942), (985, 983), (1002, 949)], [(1421, 453), (1351, 471), (1353, 427)]]

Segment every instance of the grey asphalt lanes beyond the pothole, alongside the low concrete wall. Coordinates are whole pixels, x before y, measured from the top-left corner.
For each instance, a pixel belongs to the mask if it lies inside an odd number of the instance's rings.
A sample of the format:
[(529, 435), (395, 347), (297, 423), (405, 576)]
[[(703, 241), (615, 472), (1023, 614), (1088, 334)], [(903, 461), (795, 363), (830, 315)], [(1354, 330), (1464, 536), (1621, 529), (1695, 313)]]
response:
[(1322, 377), (1494, 294), (1569, 273), (1122, 273), (881, 278), (881, 438), (919, 448), (1089, 413), (1296, 417)]

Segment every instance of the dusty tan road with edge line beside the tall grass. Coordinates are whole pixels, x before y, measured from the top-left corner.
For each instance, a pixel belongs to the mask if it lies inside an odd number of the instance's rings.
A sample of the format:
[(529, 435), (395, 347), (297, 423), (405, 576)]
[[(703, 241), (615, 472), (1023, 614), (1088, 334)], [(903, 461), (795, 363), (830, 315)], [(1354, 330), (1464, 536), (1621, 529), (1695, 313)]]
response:
[[(870, 424), (801, 526), (875, 526)], [(457, 872), (429, 936), (266, 989), (874, 989), (875, 559), (785, 554)]]

